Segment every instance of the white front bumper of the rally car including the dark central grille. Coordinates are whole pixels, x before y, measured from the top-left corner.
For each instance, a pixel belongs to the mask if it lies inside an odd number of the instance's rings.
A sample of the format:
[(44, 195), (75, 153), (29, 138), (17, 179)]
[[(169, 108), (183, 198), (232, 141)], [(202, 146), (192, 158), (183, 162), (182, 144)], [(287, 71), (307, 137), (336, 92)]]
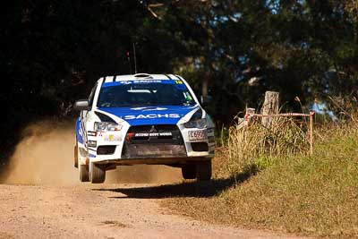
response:
[[(148, 127), (130, 127), (121, 132), (101, 132), (89, 137), (96, 141), (96, 147), (88, 147), (91, 162), (134, 164), (175, 164), (190, 160), (202, 160), (214, 157), (215, 141), (212, 129), (186, 129), (180, 125), (154, 125), (157, 132), (149, 137)], [(205, 138), (192, 140), (191, 131), (205, 131)], [(163, 133), (163, 137), (160, 136)], [(138, 137), (137, 137), (138, 135)], [(169, 136), (168, 136), (169, 135)], [(107, 154), (101, 149), (107, 147)]]

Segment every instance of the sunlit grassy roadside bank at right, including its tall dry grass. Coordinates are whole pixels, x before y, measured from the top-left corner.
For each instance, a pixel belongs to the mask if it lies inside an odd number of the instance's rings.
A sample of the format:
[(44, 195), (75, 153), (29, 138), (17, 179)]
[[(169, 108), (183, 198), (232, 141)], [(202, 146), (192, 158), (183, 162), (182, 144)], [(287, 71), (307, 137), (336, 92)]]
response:
[(176, 196), (166, 206), (227, 225), (358, 237), (358, 124), (317, 129), (312, 157), (305, 153), (305, 126), (293, 124), (232, 128), (227, 148), (214, 160), (216, 179), (203, 185), (214, 193)]

